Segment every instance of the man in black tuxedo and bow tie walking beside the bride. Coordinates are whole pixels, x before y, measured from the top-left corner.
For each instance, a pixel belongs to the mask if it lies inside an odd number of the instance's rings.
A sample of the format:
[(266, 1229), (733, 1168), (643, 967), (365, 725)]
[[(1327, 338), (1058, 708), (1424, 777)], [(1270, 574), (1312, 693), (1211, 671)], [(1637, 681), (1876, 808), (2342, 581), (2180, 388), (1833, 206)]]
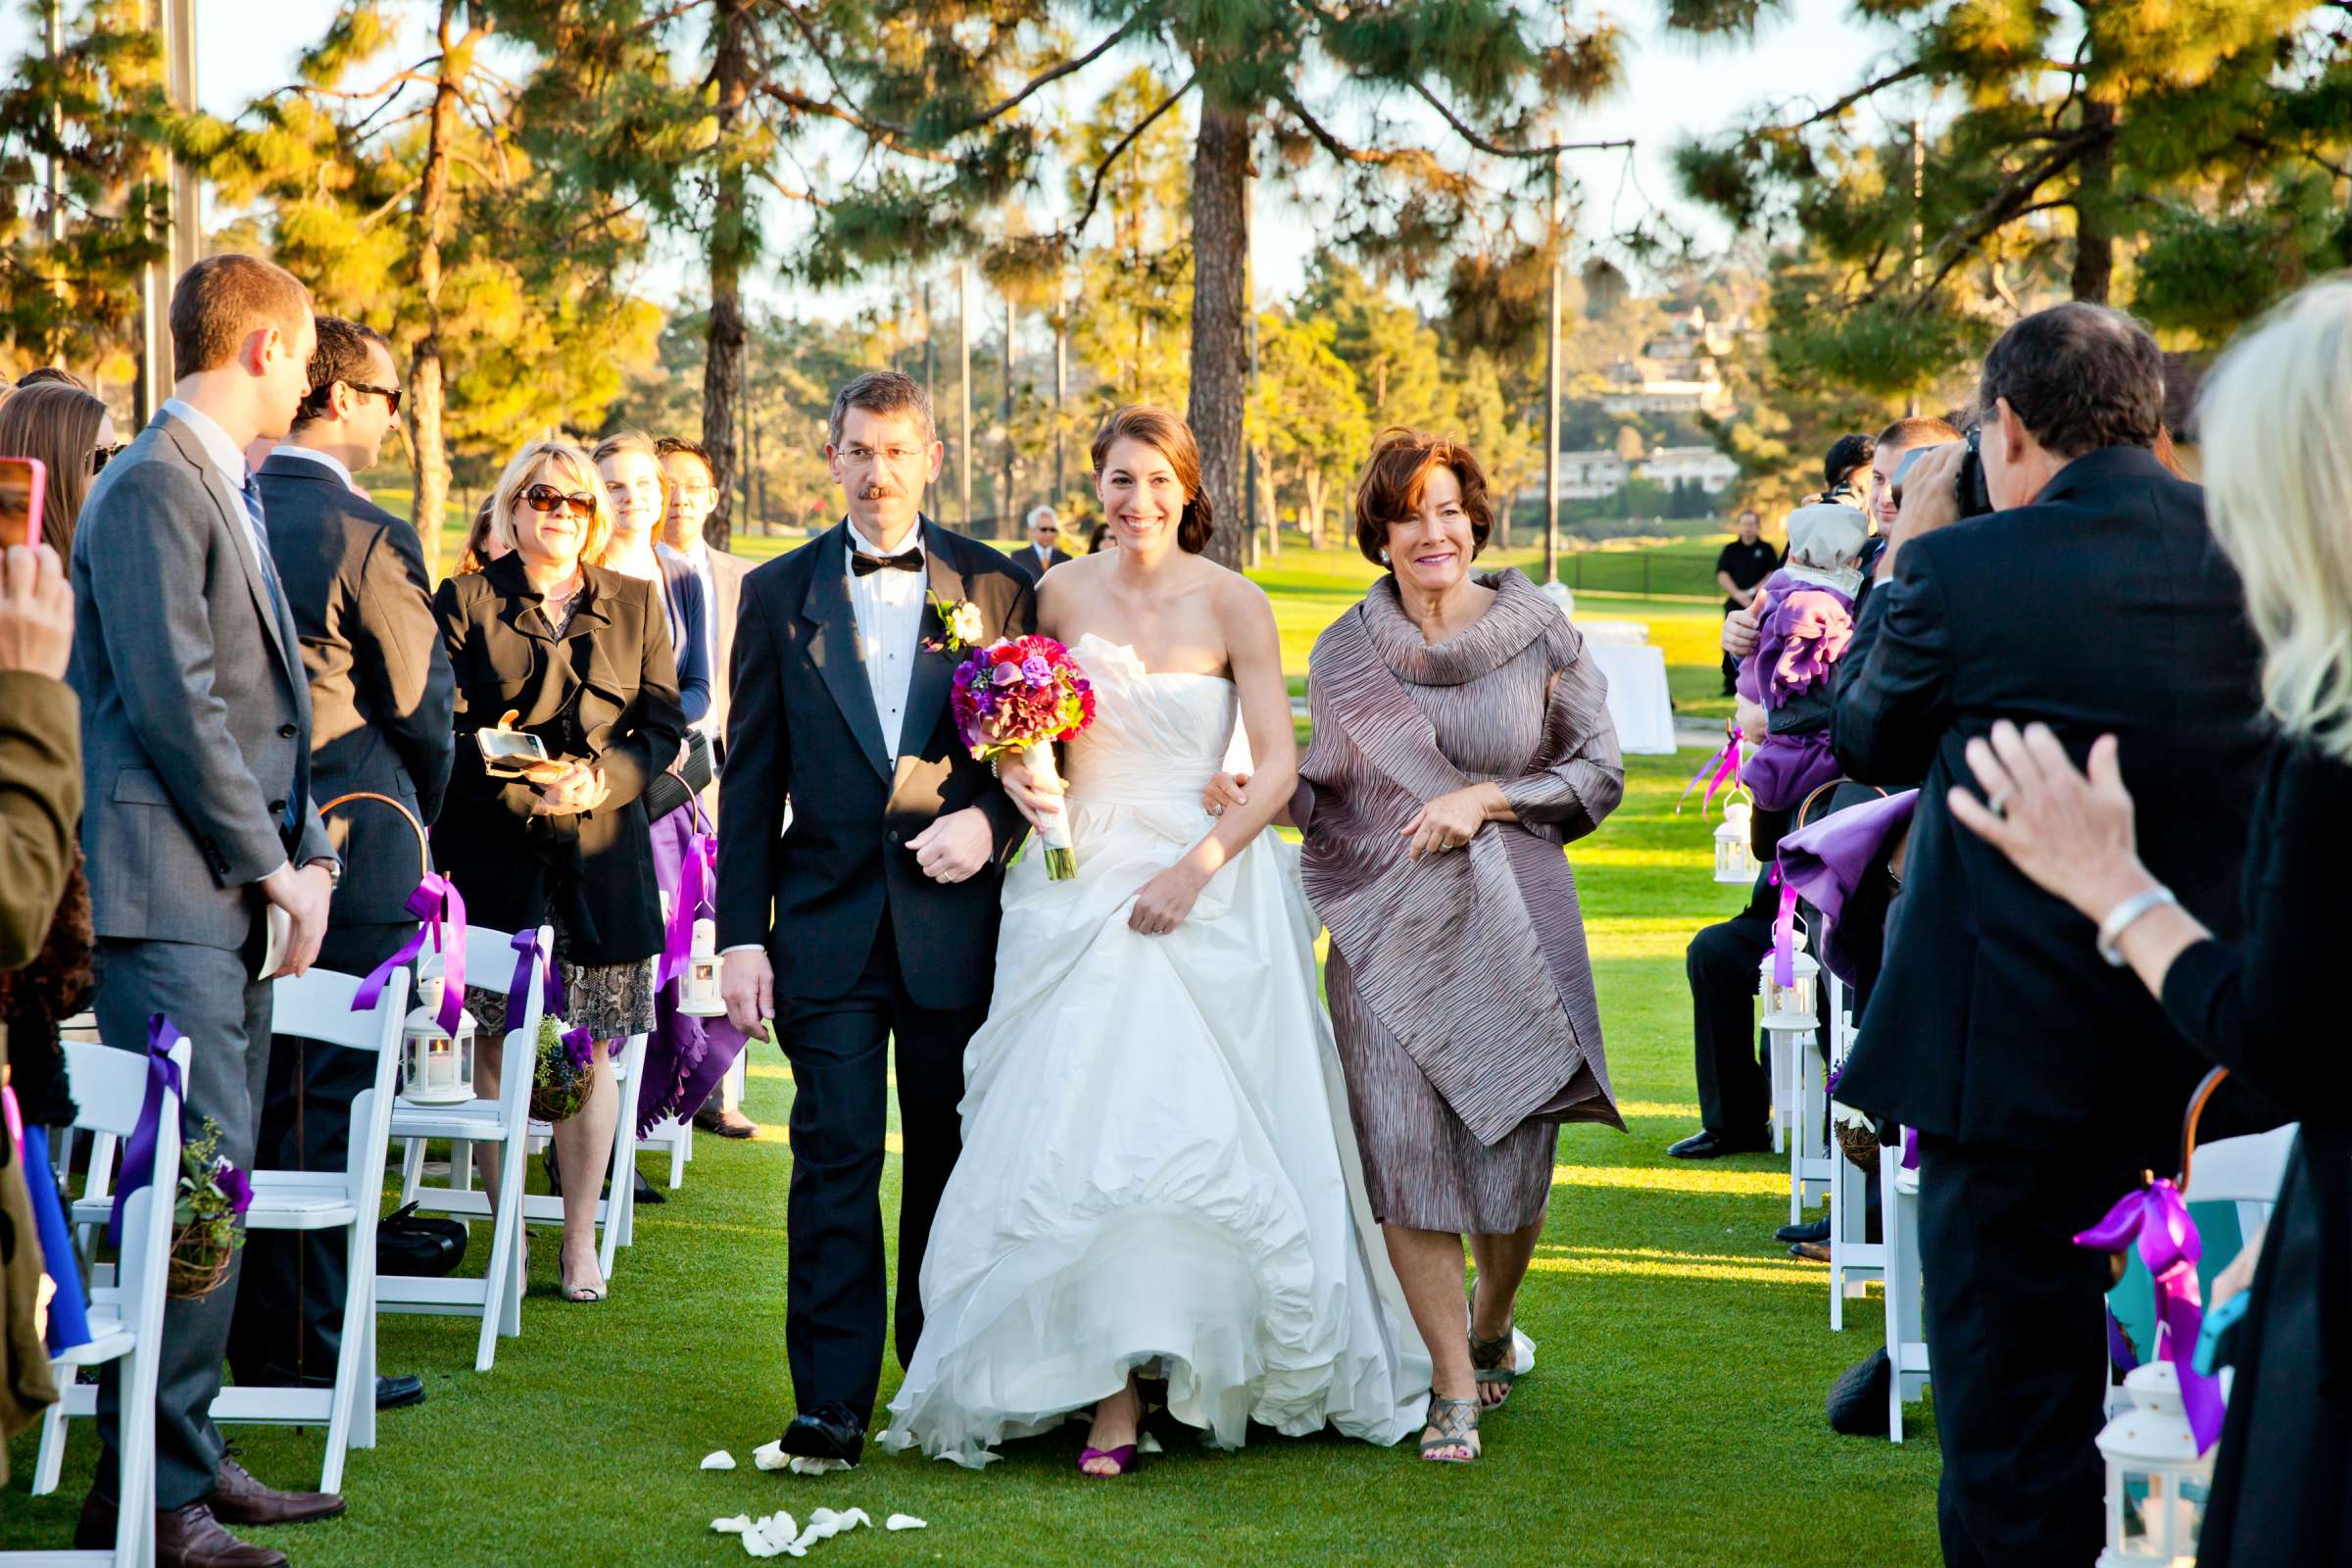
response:
[[(856, 1462), (882, 1382), (887, 1039), (898, 1044), (898, 1363), (962, 1145), (964, 1041), (988, 1011), (1002, 863), (1025, 832), (948, 715), (957, 654), (1035, 628), (1030, 578), (917, 512), (943, 449), (922, 386), (858, 376), (826, 461), (849, 520), (743, 578), (720, 790), (729, 1020), (793, 1065), (786, 1453)], [(969, 630), (969, 628), (967, 628)], [(786, 827), (786, 802), (793, 816)], [(781, 835), (781, 837), (779, 837)]]

